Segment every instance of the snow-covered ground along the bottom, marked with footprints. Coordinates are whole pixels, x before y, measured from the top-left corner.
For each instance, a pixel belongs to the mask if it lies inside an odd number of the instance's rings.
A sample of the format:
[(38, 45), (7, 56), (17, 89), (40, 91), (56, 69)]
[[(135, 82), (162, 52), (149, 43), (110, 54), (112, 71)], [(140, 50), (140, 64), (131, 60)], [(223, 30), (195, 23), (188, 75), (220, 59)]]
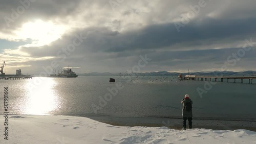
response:
[(249, 130), (117, 127), (62, 115), (9, 115), (6, 140), (4, 121), (2, 115), (0, 143), (256, 143), (256, 132)]

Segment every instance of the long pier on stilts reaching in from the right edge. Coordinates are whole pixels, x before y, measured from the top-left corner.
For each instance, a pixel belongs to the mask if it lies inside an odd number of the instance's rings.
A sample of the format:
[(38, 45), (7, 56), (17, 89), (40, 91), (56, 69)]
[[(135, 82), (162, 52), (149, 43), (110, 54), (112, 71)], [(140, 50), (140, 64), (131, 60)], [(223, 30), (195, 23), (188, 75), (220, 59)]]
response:
[[(249, 80), (249, 83), (252, 84), (252, 80), (255, 80), (256, 77), (233, 77), (233, 76), (194, 76), (194, 75), (187, 75), (183, 77), (183, 80), (197, 80), (197, 81), (212, 81), (215, 82), (223, 82), (223, 80), (226, 80), (226, 82), (240, 82), (244, 83), (244, 80)], [(230, 81), (231, 80), (231, 81)]]

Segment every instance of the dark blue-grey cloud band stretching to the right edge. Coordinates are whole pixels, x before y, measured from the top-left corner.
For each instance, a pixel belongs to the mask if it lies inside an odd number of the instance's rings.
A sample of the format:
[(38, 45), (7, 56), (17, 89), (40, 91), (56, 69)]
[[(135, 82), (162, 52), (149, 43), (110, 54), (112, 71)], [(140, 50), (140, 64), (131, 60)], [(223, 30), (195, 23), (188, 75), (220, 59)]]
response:
[[(207, 44), (214, 42), (212, 40), (221, 40), (222, 38), (230, 38), (228, 42), (232, 42), (244, 39), (246, 36), (255, 35), (255, 22), (256, 19), (243, 21), (206, 19), (201, 25), (191, 22), (180, 32), (177, 32), (173, 23), (153, 25), (139, 31), (117, 34), (115, 37), (103, 37), (103, 39), (108, 39), (108, 43), (104, 44), (113, 43), (113, 45), (102, 47), (102, 51), (120, 52), (135, 49), (156, 49), (177, 43), (190, 47), (207, 42), (205, 43), (205, 46), (207, 46)], [(99, 49), (99, 47), (96, 44), (94, 48)], [(180, 49), (180, 47), (172, 47), (172, 50), (174, 49)]]

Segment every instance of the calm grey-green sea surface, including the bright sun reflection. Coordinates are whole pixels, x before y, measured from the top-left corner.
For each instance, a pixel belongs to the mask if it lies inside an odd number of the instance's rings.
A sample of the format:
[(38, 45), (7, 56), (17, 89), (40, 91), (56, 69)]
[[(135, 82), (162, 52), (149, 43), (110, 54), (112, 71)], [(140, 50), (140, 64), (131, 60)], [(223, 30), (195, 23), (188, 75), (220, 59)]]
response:
[[(4, 87), (8, 87), (12, 114), (181, 117), (180, 101), (188, 93), (194, 117), (256, 120), (256, 84), (218, 82), (205, 89), (204, 81), (177, 82), (176, 77), (133, 77), (133, 81), (113, 77), (115, 83), (109, 78), (0, 80), (0, 113), (4, 113)], [(200, 97), (198, 88), (207, 93)]]

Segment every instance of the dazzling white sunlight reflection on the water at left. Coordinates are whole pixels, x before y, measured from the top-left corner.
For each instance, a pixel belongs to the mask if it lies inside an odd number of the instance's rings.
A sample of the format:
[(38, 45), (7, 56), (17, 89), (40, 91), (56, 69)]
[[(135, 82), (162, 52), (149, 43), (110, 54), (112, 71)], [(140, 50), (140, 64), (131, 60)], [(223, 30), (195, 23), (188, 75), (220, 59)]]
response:
[(55, 81), (53, 79), (46, 78), (42, 80), (41, 84), (32, 90), (29, 90), (29, 93), (27, 94), (28, 100), (25, 104), (23, 114), (48, 114), (48, 112), (57, 109), (58, 98), (54, 93), (54, 85)]

